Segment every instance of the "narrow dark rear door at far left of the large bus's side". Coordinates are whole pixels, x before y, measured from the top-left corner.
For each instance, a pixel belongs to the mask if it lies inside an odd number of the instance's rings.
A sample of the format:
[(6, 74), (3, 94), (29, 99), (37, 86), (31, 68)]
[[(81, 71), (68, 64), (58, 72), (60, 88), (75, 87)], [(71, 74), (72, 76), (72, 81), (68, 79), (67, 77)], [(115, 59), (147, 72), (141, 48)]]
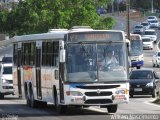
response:
[[(14, 46), (15, 47), (15, 46)], [(18, 43), (17, 50), (17, 81), (18, 81), (18, 94), (19, 98), (22, 98), (22, 87), (21, 87), (21, 55), (22, 54), (22, 43)]]

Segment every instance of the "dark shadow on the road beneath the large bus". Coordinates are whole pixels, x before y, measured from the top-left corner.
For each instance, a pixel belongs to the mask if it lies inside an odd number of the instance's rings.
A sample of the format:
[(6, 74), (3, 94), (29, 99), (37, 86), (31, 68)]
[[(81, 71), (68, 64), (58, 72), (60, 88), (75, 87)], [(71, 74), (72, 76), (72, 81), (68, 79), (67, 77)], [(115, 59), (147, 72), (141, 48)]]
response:
[[(9, 98), (8, 98), (9, 100)], [(12, 100), (14, 102), (14, 100)], [(65, 114), (58, 114), (53, 105), (46, 107), (30, 108), (23, 104), (0, 104), (0, 118), (4, 116), (18, 116), (18, 117), (58, 117), (58, 116), (81, 116), (81, 115), (111, 115), (107, 112), (100, 112), (86, 108), (69, 107)]]

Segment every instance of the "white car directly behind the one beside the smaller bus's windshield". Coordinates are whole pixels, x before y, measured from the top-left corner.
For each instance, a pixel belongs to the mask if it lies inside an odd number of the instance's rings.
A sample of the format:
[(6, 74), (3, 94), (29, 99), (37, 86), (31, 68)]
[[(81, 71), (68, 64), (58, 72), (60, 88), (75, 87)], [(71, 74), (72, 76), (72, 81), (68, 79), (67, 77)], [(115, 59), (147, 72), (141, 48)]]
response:
[(157, 42), (157, 33), (154, 29), (145, 30), (142, 37), (149, 37), (153, 42)]

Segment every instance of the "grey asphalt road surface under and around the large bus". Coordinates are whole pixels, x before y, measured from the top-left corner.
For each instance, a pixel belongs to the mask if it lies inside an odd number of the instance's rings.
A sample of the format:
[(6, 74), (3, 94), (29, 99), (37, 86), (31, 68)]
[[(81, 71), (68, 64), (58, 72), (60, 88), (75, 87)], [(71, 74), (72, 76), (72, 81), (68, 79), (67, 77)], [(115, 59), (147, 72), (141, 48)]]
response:
[[(160, 31), (158, 31), (160, 33)], [(159, 34), (160, 38), (160, 34)], [(151, 58), (153, 52), (157, 49), (156, 44), (154, 50), (144, 50), (145, 68), (152, 68)], [(12, 54), (12, 46), (7, 46), (0, 50), (0, 56), (4, 54)], [(154, 68), (160, 75), (160, 68)], [(70, 108), (65, 115), (58, 115), (53, 105), (41, 108), (30, 108), (26, 106), (26, 101), (18, 99), (16, 96), (6, 96), (4, 100), (0, 100), (0, 119), (2, 120), (110, 120), (118, 119), (121, 115), (125, 119), (132, 114), (146, 115), (151, 114), (155, 120), (160, 119), (160, 106), (153, 104), (154, 99), (151, 96), (134, 96), (130, 98), (128, 104), (120, 104), (116, 114), (108, 114), (107, 110), (99, 107), (90, 107), (85, 109)], [(113, 118), (114, 117), (114, 118)], [(151, 120), (150, 118), (150, 120)], [(131, 118), (135, 119), (134, 117)], [(130, 119), (130, 120), (131, 120)], [(128, 120), (128, 119), (127, 119)]]

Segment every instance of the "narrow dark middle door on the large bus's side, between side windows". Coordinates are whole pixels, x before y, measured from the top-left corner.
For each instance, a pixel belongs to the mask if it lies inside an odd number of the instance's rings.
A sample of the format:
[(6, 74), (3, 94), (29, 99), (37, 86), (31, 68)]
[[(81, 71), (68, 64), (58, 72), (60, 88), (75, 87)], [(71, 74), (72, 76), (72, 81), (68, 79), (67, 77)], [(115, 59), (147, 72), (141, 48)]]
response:
[(41, 89), (41, 48), (42, 42), (36, 42), (36, 92), (37, 92), (37, 99), (42, 99), (42, 89)]

